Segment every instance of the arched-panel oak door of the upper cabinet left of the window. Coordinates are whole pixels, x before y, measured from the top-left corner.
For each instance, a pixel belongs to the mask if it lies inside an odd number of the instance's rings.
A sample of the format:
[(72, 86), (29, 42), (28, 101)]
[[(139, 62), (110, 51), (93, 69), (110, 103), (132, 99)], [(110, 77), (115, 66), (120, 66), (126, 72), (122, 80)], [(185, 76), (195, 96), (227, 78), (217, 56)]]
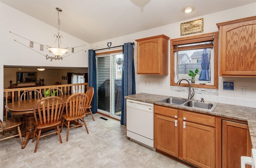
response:
[(137, 73), (161, 74), (162, 38), (137, 43)]

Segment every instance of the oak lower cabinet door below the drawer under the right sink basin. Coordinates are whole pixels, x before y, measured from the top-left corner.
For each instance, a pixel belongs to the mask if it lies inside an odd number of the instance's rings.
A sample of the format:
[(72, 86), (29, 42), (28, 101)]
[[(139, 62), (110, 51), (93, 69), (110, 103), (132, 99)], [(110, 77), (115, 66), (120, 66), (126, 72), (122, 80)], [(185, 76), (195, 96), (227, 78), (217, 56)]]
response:
[(184, 121), (182, 158), (202, 168), (215, 167), (215, 128)]

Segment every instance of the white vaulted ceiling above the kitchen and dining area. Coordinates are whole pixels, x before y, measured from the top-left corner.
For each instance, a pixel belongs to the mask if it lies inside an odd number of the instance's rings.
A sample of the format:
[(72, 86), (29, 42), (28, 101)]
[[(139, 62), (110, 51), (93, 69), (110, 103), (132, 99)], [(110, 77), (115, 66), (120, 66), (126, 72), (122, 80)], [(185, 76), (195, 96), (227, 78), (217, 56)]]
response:
[[(256, 0), (0, 0), (88, 43), (254, 3)], [(191, 13), (182, 8), (192, 6)]]

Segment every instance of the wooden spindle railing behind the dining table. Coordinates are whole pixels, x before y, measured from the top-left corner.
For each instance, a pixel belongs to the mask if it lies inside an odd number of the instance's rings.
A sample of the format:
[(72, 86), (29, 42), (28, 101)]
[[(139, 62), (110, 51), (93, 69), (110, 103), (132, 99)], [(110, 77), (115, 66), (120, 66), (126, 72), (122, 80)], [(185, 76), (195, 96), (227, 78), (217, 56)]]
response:
[[(59, 88), (62, 90), (63, 94), (74, 94), (78, 92), (85, 93), (88, 88), (88, 83), (81, 84), (62, 84), (62, 85), (51, 85), (51, 86), (35, 86), (28, 88), (14, 88), (14, 89), (4, 89), (4, 106), (6, 103), (20, 101), (21, 94), (26, 90), (38, 90), (42, 93), (44, 97), (44, 91), (50, 88)], [(8, 101), (9, 100), (9, 101)], [(8, 117), (7, 109), (5, 110), (5, 116)]]

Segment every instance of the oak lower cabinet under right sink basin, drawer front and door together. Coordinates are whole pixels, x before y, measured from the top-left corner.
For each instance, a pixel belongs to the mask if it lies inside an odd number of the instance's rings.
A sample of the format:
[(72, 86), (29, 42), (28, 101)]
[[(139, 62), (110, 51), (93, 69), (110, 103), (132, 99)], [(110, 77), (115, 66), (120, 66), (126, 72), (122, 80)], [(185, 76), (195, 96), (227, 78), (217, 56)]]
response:
[(215, 117), (179, 110), (182, 114), (182, 160), (201, 168), (215, 167)]

